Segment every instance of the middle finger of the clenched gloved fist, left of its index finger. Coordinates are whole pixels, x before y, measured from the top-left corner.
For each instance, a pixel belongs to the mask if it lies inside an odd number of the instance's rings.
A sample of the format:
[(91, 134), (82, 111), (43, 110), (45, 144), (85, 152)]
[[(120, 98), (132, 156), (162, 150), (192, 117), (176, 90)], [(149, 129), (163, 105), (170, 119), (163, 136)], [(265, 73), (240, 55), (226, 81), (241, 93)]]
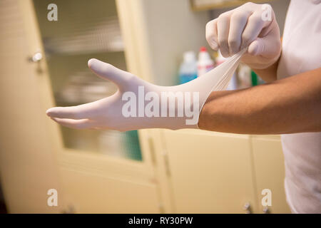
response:
[(228, 47), (230, 56), (240, 51), (242, 33), (245, 28), (251, 11), (234, 11), (230, 16), (230, 31), (228, 33)]

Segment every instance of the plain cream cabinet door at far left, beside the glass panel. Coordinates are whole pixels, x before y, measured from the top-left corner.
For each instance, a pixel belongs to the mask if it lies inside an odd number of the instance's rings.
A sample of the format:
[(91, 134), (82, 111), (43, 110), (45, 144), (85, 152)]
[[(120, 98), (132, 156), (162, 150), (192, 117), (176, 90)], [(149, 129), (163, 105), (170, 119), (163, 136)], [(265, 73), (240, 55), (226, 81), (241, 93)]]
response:
[[(52, 105), (32, 1), (0, 1), (0, 172), (9, 212), (58, 212), (61, 205), (54, 154), (55, 127), (46, 117)], [(54, 143), (53, 143), (54, 142)], [(58, 207), (47, 204), (58, 190)]]

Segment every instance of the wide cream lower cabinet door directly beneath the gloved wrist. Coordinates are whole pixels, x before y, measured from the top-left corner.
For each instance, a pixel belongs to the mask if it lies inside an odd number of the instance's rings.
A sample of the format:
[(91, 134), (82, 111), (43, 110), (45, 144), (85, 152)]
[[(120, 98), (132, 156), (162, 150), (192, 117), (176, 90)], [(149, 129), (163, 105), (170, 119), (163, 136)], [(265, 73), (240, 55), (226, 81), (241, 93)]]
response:
[(244, 213), (255, 209), (248, 135), (163, 130), (175, 212)]

